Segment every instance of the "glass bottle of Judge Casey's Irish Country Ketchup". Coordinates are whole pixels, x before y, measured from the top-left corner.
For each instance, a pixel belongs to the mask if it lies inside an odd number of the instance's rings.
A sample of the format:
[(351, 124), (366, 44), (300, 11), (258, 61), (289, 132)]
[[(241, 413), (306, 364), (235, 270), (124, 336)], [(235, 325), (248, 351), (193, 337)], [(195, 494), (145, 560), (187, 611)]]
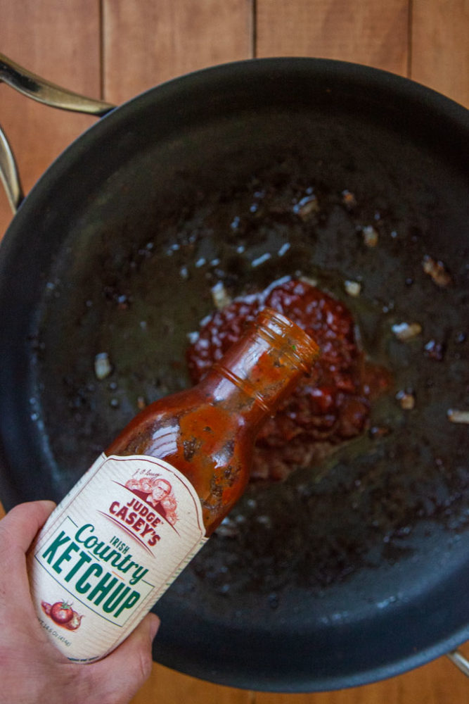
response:
[(319, 355), (264, 308), (192, 389), (151, 403), (53, 511), (28, 554), (41, 625), (70, 660), (110, 653), (248, 484), (262, 423)]

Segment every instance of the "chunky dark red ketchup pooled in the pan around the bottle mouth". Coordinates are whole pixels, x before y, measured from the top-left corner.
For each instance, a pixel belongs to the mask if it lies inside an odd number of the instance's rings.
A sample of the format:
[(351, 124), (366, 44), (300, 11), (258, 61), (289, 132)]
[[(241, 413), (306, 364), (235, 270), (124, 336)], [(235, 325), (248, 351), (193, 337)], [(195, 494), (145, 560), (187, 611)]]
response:
[(259, 294), (236, 298), (205, 319), (197, 341), (187, 351), (194, 383), (240, 338), (264, 306), (286, 315), (321, 348), (311, 374), (266, 422), (257, 439), (251, 478), (278, 481), (363, 433), (370, 402), (387, 389), (390, 376), (365, 361), (355, 339), (354, 320), (343, 303), (306, 282), (288, 280)]

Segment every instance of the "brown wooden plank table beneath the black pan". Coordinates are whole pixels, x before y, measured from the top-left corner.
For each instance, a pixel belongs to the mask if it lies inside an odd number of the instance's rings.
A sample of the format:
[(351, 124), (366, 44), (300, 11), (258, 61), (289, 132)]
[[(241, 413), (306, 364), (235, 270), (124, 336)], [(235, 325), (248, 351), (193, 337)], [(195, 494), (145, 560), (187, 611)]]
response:
[[(0, 51), (49, 80), (120, 103), (168, 78), (252, 56), (340, 58), (412, 77), (469, 107), (468, 0), (0, 0)], [(93, 119), (0, 85), (25, 191)], [(0, 192), (0, 233), (11, 220)], [(465, 646), (469, 656), (469, 647)], [(333, 693), (229, 689), (155, 665), (133, 704), (463, 704), (446, 658)]]

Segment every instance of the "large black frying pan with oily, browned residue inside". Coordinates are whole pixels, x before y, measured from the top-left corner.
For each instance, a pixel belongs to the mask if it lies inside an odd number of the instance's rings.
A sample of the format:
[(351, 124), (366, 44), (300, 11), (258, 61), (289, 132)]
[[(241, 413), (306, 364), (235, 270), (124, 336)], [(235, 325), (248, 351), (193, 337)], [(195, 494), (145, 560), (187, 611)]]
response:
[[(232, 686), (319, 691), (391, 677), (468, 639), (468, 432), (447, 416), (467, 408), (468, 136), (467, 111), (408, 80), (248, 61), (112, 111), (25, 199), (0, 257), (7, 509), (58, 501), (140, 396), (188, 384), (187, 336), (218, 281), (237, 296), (314, 278), (393, 375), (364, 436), (250, 487), (158, 603), (158, 662)], [(307, 187), (321, 212), (304, 222), (285, 203)], [(280, 215), (252, 215), (263, 188)], [(373, 251), (364, 225), (378, 230)], [(425, 256), (442, 260), (448, 286)], [(346, 279), (361, 281), (358, 298)], [(400, 322), (422, 332), (402, 343)], [(113, 363), (103, 381), (100, 352)], [(412, 411), (395, 398), (409, 387)]]

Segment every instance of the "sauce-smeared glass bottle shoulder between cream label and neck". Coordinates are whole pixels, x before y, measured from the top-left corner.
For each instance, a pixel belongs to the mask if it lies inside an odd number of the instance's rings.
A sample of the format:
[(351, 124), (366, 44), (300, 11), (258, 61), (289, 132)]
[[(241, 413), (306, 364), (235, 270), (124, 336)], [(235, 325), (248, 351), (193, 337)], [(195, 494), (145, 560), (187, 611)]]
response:
[(197, 492), (211, 532), (245, 489), (254, 436), (235, 413), (191, 391), (150, 404), (106, 454), (148, 455), (176, 467)]

